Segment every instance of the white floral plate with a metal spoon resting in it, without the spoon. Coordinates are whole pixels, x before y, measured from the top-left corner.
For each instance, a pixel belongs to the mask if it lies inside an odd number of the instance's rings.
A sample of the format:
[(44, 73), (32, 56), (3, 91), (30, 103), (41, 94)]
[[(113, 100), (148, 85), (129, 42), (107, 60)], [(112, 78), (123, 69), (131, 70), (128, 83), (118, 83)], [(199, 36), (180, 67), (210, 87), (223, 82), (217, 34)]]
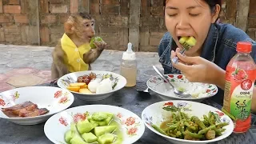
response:
[[(218, 87), (213, 84), (189, 82), (182, 74), (165, 74), (169, 81), (178, 89), (179, 87), (188, 90), (192, 94), (190, 98), (180, 98), (174, 94), (173, 89), (167, 82), (164, 82), (160, 76), (150, 78), (146, 85), (166, 100), (182, 99), (182, 100), (202, 100), (210, 98), (218, 93)], [(193, 96), (195, 95), (195, 96)]]

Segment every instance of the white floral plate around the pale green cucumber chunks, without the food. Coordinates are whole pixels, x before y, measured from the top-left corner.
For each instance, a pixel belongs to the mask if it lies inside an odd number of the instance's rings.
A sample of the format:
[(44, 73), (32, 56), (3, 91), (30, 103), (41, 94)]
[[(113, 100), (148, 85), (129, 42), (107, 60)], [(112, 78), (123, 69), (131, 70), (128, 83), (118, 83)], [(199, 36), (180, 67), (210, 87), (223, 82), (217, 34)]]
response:
[(46, 137), (56, 144), (66, 143), (64, 134), (66, 130), (70, 130), (70, 123), (74, 122), (74, 119), (79, 118), (79, 115), (81, 116), (86, 112), (89, 112), (90, 114), (93, 114), (94, 112), (110, 112), (114, 114), (114, 119), (121, 123), (124, 144), (138, 141), (144, 133), (145, 126), (142, 119), (129, 110), (118, 106), (87, 105), (70, 108), (61, 113), (54, 114), (54, 116), (49, 118), (45, 124), (44, 131)]

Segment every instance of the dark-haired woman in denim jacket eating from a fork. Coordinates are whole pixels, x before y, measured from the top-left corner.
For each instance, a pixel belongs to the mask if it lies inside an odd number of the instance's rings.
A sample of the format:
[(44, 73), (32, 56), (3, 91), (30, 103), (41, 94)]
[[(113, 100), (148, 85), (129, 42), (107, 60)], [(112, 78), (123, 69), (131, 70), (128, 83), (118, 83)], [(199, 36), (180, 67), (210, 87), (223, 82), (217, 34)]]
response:
[[(225, 70), (230, 59), (237, 54), (237, 42), (252, 42), (251, 56), (256, 62), (256, 42), (245, 32), (229, 24), (219, 24), (222, 0), (166, 0), (165, 20), (168, 32), (158, 47), (159, 62), (165, 74), (184, 74), (190, 82), (212, 83), (219, 87), (215, 102), (223, 103)], [(193, 36), (197, 43), (185, 55), (178, 38)], [(171, 58), (178, 56), (174, 64)], [(252, 110), (256, 111), (256, 90)]]

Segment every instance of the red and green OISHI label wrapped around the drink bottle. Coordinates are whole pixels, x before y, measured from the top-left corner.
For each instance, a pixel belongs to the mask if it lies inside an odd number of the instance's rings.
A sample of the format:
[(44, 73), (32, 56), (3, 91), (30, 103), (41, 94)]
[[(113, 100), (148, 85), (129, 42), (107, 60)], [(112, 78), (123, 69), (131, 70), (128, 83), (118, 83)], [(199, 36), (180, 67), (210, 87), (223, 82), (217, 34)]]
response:
[[(254, 70), (226, 67), (226, 84), (223, 107), (238, 121), (235, 123), (236, 132), (243, 132), (242, 127), (250, 127), (250, 107), (254, 90)], [(238, 129), (238, 127), (240, 127)]]

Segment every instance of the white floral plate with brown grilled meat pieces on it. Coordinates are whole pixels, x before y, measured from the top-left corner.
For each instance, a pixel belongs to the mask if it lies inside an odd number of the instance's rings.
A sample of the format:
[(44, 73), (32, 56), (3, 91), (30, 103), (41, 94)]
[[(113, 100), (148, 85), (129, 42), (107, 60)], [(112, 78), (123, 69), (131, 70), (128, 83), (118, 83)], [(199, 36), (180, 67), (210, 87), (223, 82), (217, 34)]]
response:
[(0, 93), (0, 118), (19, 125), (46, 122), (74, 102), (69, 90), (50, 86), (27, 86)]

